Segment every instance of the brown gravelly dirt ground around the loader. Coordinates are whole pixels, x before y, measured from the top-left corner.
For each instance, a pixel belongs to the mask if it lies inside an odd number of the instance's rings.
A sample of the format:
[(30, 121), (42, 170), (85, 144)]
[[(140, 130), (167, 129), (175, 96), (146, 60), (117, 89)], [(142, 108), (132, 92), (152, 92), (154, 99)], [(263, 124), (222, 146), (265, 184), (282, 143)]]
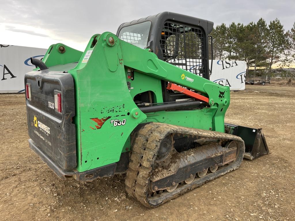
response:
[(295, 220), (295, 87), (231, 92), (226, 122), (262, 127), (271, 154), (147, 209), (125, 175), (63, 181), (28, 147), (24, 94), (0, 95), (0, 220)]

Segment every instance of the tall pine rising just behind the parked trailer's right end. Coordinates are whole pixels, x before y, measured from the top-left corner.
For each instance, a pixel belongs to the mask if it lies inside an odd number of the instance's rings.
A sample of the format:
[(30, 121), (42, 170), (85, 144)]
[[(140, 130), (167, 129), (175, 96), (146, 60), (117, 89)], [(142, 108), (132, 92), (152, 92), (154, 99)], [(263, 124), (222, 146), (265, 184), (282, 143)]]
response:
[(268, 25), (268, 53), (269, 53), (269, 67), (268, 71), (271, 72), (271, 66), (281, 59), (281, 55), (286, 46), (286, 35), (284, 34), (283, 25), (276, 18)]

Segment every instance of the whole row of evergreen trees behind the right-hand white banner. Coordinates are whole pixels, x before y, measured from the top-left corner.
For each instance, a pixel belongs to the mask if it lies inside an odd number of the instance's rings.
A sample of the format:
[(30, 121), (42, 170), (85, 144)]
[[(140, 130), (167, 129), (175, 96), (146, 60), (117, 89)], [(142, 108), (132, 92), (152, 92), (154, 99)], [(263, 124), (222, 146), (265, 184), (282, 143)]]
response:
[[(272, 65), (295, 65), (295, 22), (285, 32), (279, 19), (269, 24), (262, 18), (247, 25), (232, 22), (217, 25), (213, 31), (215, 60), (242, 60), (254, 75), (271, 73)], [(209, 48), (211, 50), (211, 46)]]

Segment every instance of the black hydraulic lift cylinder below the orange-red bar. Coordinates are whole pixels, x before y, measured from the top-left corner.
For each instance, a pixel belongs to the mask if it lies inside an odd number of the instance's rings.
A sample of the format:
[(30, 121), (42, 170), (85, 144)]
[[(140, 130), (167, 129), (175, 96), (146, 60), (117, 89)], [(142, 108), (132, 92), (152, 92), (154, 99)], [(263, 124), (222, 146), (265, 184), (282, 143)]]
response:
[(175, 110), (177, 108), (186, 108), (186, 107), (194, 107), (199, 106), (201, 104), (205, 104), (205, 102), (196, 100), (196, 101), (187, 101), (187, 102), (179, 102), (179, 103), (171, 103), (171, 104), (162, 104), (148, 107), (138, 107), (143, 113), (152, 113), (161, 110)]

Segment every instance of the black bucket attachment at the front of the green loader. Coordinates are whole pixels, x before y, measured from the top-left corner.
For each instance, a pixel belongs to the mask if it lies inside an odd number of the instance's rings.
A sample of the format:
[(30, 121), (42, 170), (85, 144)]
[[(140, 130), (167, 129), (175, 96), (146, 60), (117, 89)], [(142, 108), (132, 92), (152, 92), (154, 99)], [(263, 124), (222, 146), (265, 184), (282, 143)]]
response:
[(239, 136), (245, 142), (244, 158), (253, 160), (264, 154), (269, 154), (268, 146), (262, 128), (249, 128), (225, 123), (225, 132)]

